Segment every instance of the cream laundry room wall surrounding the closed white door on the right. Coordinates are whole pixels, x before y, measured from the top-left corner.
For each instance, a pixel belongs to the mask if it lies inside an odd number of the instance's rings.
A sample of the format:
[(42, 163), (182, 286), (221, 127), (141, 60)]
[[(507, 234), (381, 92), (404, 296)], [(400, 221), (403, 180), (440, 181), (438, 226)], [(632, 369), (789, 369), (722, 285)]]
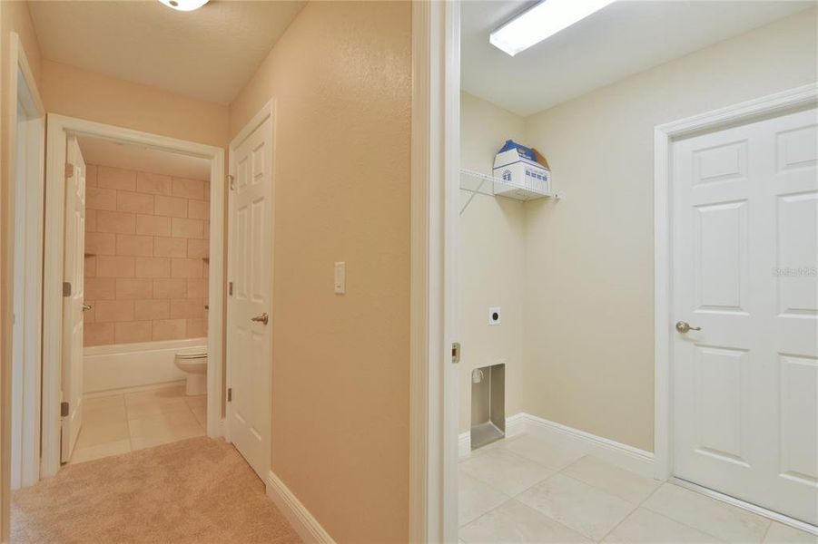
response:
[(528, 413), (652, 451), (653, 130), (816, 77), (816, 11), (527, 119), (566, 198), (526, 204)]

